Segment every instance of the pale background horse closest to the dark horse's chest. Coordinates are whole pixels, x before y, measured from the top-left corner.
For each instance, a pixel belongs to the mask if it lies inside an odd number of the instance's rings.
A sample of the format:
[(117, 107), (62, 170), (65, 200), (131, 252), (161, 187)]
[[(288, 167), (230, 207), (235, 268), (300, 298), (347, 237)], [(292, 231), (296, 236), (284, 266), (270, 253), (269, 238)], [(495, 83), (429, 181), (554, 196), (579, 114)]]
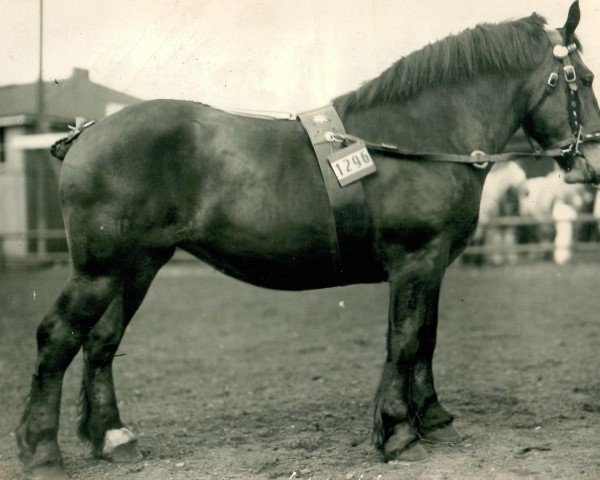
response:
[[(518, 191), (527, 179), (525, 171), (516, 162), (499, 163), (488, 174), (481, 193), (479, 224), (473, 235), (474, 245), (514, 245), (517, 243), (515, 230), (506, 227), (490, 227), (488, 223), (500, 217), (519, 214)], [(516, 260), (514, 255), (496, 252), (479, 257), (479, 261), (489, 261), (500, 265), (505, 261)]]

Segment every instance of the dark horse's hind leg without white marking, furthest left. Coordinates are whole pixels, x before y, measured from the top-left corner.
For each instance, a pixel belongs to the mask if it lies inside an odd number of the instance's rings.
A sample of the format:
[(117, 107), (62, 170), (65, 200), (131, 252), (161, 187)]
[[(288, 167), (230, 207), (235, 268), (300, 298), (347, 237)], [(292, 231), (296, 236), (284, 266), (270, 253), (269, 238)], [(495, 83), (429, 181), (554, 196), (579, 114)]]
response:
[(63, 375), (116, 288), (115, 277), (76, 271), (38, 327), (37, 366), (16, 431), (19, 456), (30, 478), (68, 478), (56, 439)]

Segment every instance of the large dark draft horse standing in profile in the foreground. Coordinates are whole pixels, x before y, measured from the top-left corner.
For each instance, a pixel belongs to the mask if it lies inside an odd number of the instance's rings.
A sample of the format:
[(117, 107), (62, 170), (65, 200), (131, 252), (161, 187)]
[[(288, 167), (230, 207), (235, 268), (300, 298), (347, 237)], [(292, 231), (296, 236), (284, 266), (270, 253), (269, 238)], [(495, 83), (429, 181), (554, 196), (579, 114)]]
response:
[[(575, 42), (578, 16), (573, 7), (560, 31), (564, 45)], [(590, 131), (600, 125), (593, 75), (571, 50), (576, 121)], [(413, 151), (496, 153), (520, 125), (550, 146), (573, 136), (573, 94), (560, 66), (544, 20), (534, 14), (429, 45), (334, 106), (349, 133)], [(547, 79), (556, 71), (558, 84), (548, 94)], [(598, 146), (575, 149), (582, 155), (573, 155), (569, 180), (592, 181)], [(39, 326), (31, 394), (17, 429), (31, 477), (66, 476), (57, 443), (61, 384), (81, 347), (80, 436), (98, 456), (140, 457), (119, 417), (111, 365), (127, 324), (176, 248), (270, 288), (388, 281), (375, 444), (388, 459), (415, 459), (424, 454), (419, 439), (460, 440), (438, 401), (432, 357), (444, 271), (475, 229), (487, 170), (375, 153), (373, 159), (378, 172), (363, 182), (375, 259), (345, 277), (333, 261), (324, 183), (298, 122), (159, 100), (87, 130), (60, 178), (72, 274)]]

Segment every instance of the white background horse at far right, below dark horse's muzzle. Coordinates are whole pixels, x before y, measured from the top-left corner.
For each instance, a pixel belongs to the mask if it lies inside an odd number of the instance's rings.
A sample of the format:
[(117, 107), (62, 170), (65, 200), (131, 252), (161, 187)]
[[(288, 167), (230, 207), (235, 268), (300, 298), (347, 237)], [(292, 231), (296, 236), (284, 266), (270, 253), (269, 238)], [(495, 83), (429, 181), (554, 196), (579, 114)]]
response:
[[(542, 222), (529, 229), (535, 241), (554, 242), (554, 261), (563, 264), (571, 260), (573, 220), (578, 214), (589, 212), (594, 192), (583, 184), (567, 184), (558, 171), (545, 177), (530, 178), (519, 188), (519, 212), (521, 216)], [(553, 224), (545, 223), (553, 219)]]

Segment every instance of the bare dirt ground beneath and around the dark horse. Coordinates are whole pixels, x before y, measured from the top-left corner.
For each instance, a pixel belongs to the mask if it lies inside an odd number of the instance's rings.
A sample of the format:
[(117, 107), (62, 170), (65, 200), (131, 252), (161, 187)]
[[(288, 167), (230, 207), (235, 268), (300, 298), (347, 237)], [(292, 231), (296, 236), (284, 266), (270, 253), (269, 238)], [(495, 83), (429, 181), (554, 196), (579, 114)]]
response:
[[(0, 479), (21, 479), (12, 433), (35, 329), (59, 268), (0, 276)], [(369, 442), (387, 286), (259, 289), (167, 266), (115, 361), (145, 455), (93, 459), (75, 435), (81, 360), (65, 378), (61, 443), (75, 479), (599, 479), (600, 264), (453, 267), (443, 287), (438, 393), (468, 438), (382, 461)]]

